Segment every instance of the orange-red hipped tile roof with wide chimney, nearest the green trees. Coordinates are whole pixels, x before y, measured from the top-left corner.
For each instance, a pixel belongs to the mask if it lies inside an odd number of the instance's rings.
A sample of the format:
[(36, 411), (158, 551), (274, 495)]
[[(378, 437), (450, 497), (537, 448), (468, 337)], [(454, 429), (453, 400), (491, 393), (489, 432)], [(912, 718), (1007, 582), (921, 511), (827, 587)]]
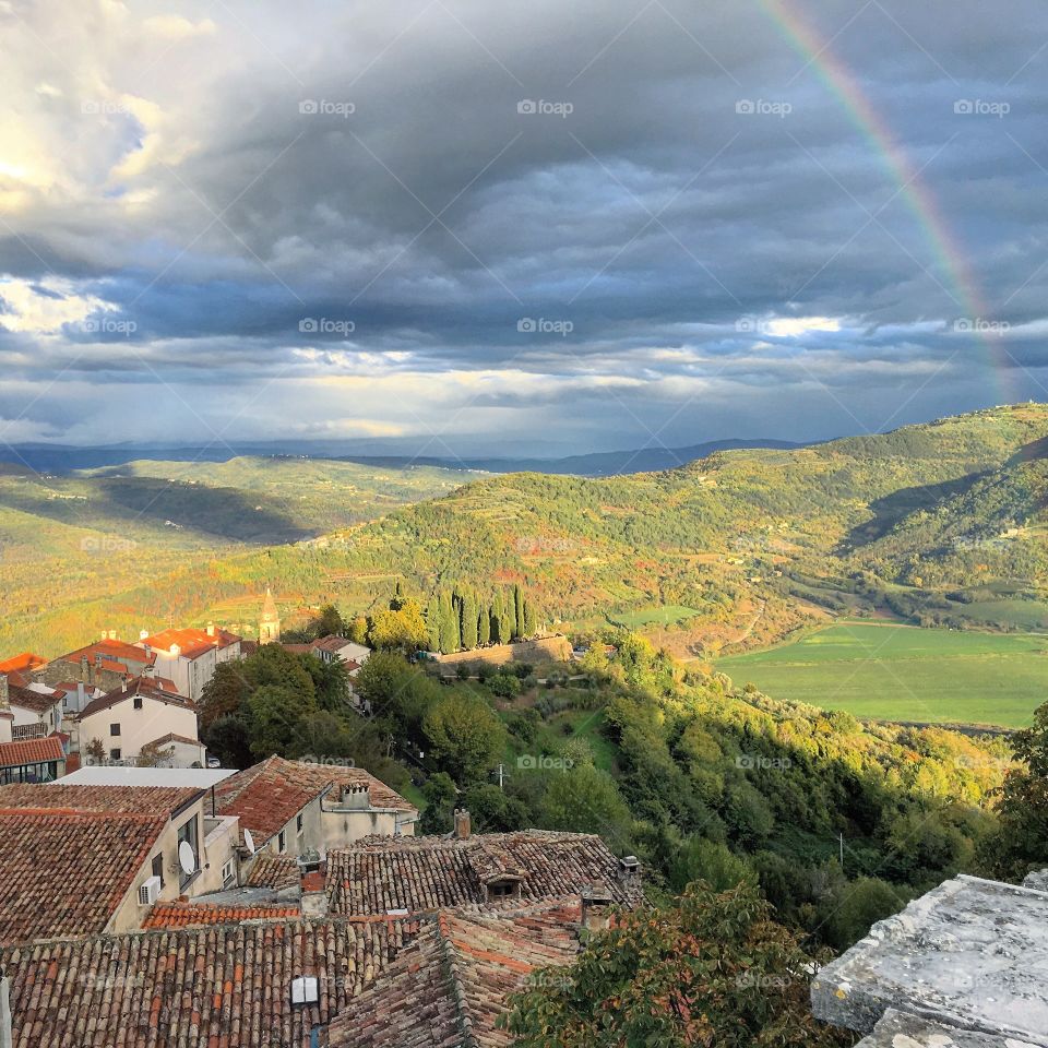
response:
[(219, 814), (239, 815), (254, 843), (262, 845), (287, 825), (314, 797), (332, 787), (368, 786), (371, 805), (415, 812), (395, 790), (362, 767), (334, 767), (271, 757), (245, 769), (215, 787)]

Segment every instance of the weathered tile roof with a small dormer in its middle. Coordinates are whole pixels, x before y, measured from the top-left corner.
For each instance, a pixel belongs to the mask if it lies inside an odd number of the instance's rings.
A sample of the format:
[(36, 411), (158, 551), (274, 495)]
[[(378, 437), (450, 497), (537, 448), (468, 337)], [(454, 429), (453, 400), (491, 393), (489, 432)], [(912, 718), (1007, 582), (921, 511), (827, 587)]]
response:
[(445, 837), (369, 837), (327, 853), (331, 913), (425, 913), (488, 902), (486, 885), (517, 881), (521, 900), (562, 898), (599, 884), (617, 903), (640, 901), (636, 879), (597, 836), (527, 830)]

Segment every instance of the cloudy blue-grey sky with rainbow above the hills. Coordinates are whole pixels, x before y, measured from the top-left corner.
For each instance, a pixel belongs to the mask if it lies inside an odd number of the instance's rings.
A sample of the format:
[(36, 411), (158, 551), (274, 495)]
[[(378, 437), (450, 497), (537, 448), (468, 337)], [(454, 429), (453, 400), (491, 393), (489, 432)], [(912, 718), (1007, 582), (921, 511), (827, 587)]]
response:
[(1048, 400), (1037, 0), (0, 0), (0, 86), (8, 444)]

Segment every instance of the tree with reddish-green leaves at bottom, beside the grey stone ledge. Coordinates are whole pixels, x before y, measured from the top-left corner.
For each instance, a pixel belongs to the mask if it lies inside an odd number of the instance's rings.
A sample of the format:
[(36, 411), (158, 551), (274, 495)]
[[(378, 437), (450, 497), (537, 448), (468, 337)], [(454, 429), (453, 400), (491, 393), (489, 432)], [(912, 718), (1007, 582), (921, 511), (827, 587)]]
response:
[(815, 958), (751, 884), (698, 882), (672, 906), (618, 916), (560, 977), (536, 978), (501, 1024), (517, 1048), (830, 1048), (811, 1014)]

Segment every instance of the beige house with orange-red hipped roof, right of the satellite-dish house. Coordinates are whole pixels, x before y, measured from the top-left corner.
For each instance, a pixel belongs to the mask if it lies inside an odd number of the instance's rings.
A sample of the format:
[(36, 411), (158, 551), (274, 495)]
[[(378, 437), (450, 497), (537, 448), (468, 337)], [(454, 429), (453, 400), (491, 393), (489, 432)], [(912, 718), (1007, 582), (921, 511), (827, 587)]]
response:
[[(371, 835), (413, 834), (418, 812), (359, 767), (271, 757), (215, 788), (217, 810), (237, 815), (254, 850), (291, 858)], [(250, 850), (250, 848), (249, 848)]]

